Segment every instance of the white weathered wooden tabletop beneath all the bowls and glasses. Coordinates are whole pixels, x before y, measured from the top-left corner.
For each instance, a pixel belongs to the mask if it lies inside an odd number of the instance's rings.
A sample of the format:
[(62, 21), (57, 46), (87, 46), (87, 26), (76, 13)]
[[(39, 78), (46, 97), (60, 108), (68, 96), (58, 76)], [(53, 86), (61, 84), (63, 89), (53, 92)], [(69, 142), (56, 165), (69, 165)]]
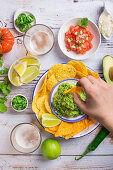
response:
[[(53, 49), (48, 54), (39, 57), (41, 75), (50, 66), (69, 61), (63, 55), (57, 43), (58, 30), (61, 25), (73, 17), (88, 17), (97, 24), (103, 8), (103, 2), (81, 2), (81, 0), (80, 2), (73, 2), (73, 0), (0, 0), (0, 26), (3, 24), (15, 36), (13, 50), (3, 57), (5, 67), (9, 67), (13, 61), (26, 54), (23, 36), (18, 34), (13, 26), (13, 14), (18, 8), (26, 8), (28, 11), (33, 12), (37, 18), (37, 23), (50, 26), (54, 32), (55, 44)], [(102, 44), (98, 52), (88, 60), (84, 60), (84, 63), (98, 71), (102, 77), (102, 58), (107, 54), (113, 55), (113, 38), (109, 41), (102, 38)], [(76, 140), (66, 141), (58, 139), (62, 152), (61, 156), (56, 160), (45, 160), (41, 155), (40, 148), (30, 155), (19, 154), (13, 149), (9, 138), (12, 128), (21, 122), (36, 121), (31, 109), (31, 103), (33, 88), (38, 78), (22, 87), (13, 87), (11, 94), (8, 96), (8, 111), (0, 114), (0, 170), (113, 169), (113, 139), (110, 136), (102, 142), (96, 151), (89, 153), (80, 161), (75, 161), (75, 156), (80, 156), (83, 153), (99, 131), (99, 128), (95, 132)], [(0, 80), (2, 79), (3, 77), (1, 76)], [(26, 95), (29, 100), (28, 109), (22, 113), (14, 112), (10, 105), (11, 98), (18, 93)], [(48, 137), (53, 137), (43, 129), (41, 129), (41, 134), (42, 141)]]

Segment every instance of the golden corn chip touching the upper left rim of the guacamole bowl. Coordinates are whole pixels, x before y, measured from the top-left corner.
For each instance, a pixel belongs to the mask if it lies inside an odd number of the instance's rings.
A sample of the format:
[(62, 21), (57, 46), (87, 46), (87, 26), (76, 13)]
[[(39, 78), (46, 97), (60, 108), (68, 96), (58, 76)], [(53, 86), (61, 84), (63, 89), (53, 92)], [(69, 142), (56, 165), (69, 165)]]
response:
[(55, 75), (52, 74), (51, 77), (47, 80), (47, 89), (51, 92), (53, 87), (58, 83)]

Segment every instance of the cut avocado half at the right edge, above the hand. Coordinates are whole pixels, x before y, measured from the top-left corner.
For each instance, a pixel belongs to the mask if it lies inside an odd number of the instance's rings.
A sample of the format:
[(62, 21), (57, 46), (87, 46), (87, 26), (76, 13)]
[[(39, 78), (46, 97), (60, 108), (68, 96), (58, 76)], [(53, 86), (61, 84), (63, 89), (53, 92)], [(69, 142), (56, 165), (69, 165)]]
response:
[(110, 55), (103, 58), (103, 74), (106, 82), (113, 85), (113, 57)]

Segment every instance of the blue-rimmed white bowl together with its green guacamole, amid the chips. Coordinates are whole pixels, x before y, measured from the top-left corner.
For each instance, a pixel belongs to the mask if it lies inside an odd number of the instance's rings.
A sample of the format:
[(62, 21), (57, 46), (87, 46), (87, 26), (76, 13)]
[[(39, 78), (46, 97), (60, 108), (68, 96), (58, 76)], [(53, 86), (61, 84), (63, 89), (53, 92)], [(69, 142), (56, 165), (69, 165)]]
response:
[[(56, 84), (50, 94), (50, 106), (53, 113), (61, 120), (66, 122), (77, 122), (86, 117), (86, 114), (74, 103), (72, 93), (64, 93), (65, 91), (76, 86), (77, 79), (70, 78), (60, 81)], [(86, 94), (83, 90), (80, 98), (85, 101)]]

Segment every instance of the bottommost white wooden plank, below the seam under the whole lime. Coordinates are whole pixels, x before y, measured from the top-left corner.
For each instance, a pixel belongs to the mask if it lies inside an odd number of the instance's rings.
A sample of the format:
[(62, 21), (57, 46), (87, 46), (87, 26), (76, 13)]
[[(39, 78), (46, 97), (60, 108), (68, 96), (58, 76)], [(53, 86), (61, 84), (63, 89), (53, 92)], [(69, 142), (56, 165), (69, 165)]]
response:
[(0, 155), (0, 168), (5, 170), (111, 170), (113, 156), (86, 156), (75, 161), (75, 156), (60, 156), (56, 160), (45, 160), (40, 155)]

